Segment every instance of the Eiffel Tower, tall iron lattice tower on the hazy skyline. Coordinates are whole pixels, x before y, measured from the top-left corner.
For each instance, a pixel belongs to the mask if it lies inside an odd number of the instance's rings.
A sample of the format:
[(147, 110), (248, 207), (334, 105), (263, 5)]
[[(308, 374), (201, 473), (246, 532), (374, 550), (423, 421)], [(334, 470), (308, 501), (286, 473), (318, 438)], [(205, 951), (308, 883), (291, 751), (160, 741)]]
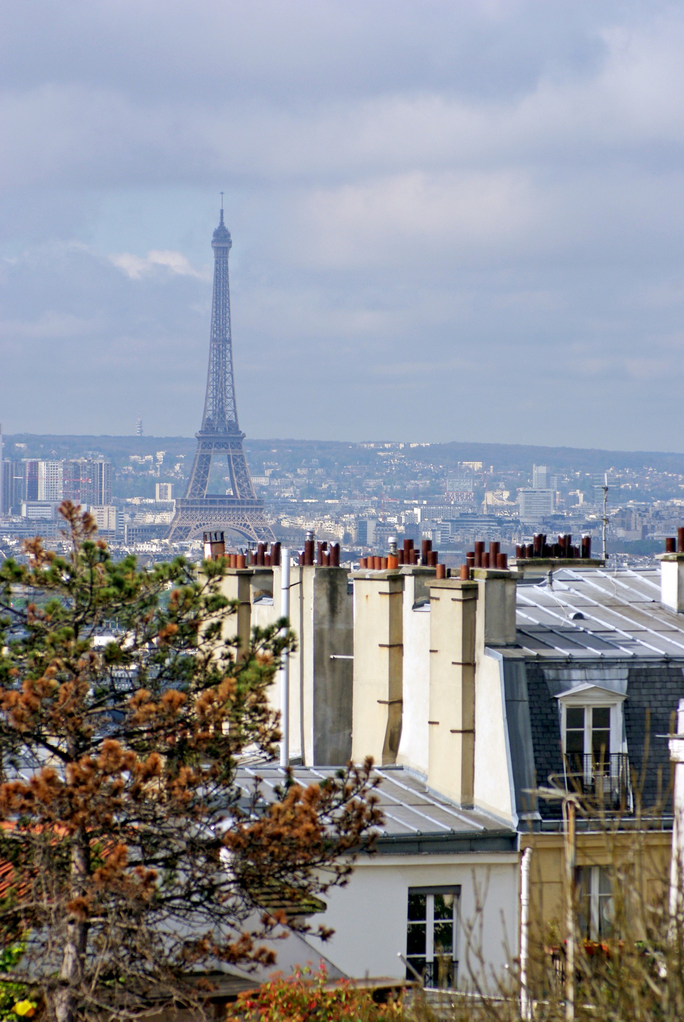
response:
[[(209, 347), (209, 372), (204, 414), (197, 437), (197, 451), (185, 497), (176, 501), (176, 514), (169, 529), (169, 540), (193, 540), (202, 532), (230, 529), (246, 540), (269, 542), (274, 539), (264, 502), (255, 494), (244, 457), (244, 433), (237, 424), (233, 345), (230, 335), (230, 290), (228, 252), (232, 247), (230, 231), (221, 219), (214, 231), (214, 299), (212, 335)], [(214, 455), (225, 454), (232, 494), (208, 494)]]

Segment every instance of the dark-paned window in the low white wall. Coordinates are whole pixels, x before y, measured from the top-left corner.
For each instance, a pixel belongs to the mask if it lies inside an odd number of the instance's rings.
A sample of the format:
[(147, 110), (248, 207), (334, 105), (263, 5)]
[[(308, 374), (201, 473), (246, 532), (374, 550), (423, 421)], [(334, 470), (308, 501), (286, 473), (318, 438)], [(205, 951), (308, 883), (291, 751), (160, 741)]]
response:
[(425, 986), (455, 987), (459, 894), (460, 887), (409, 888), (407, 979), (415, 979), (417, 973), (424, 977)]

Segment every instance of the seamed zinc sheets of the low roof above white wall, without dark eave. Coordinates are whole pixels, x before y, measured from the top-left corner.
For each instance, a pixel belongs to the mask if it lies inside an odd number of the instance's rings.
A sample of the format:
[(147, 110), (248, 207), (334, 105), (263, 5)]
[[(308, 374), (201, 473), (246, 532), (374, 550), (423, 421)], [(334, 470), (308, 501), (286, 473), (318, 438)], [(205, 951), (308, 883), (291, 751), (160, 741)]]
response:
[[(320, 784), (326, 777), (334, 777), (338, 766), (293, 766), (292, 776), (298, 784)], [(374, 770), (380, 784), (374, 794), (384, 816), (384, 825), (378, 828), (379, 838), (415, 837), (424, 835), (459, 835), (487, 837), (500, 834), (500, 822), (482, 812), (463, 809), (449, 799), (428, 791), (423, 781), (402, 768)], [(261, 778), (261, 792), (265, 801), (274, 801), (276, 787), (285, 780), (285, 771), (274, 763), (258, 766), (240, 766), (236, 783), (245, 797), (254, 792), (255, 781)]]

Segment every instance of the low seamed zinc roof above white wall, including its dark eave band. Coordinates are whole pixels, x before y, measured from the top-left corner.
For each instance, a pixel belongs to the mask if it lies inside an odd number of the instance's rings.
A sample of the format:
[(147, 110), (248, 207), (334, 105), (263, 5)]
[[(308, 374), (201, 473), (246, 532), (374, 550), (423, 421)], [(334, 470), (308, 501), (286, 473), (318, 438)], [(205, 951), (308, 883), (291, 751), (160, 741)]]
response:
[[(334, 777), (335, 766), (293, 766), (298, 784), (318, 784)], [(449, 799), (428, 791), (424, 782), (403, 770), (389, 766), (373, 771), (380, 784), (375, 789), (384, 816), (376, 850), (379, 852), (444, 851), (514, 851), (515, 834), (502, 828), (498, 821), (483, 812), (463, 809)], [(247, 795), (254, 790), (255, 779), (262, 779), (261, 790), (267, 801), (276, 797), (276, 787), (282, 785), (285, 772), (273, 763), (241, 766), (237, 783)]]

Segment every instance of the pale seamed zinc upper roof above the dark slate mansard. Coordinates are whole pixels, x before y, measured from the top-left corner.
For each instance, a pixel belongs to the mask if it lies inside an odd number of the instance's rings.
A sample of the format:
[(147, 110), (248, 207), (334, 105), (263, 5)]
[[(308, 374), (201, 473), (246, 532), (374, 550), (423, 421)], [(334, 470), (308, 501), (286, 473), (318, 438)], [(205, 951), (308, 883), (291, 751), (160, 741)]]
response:
[(516, 604), (528, 655), (684, 660), (684, 614), (660, 603), (657, 568), (561, 568), (551, 585), (518, 584)]

